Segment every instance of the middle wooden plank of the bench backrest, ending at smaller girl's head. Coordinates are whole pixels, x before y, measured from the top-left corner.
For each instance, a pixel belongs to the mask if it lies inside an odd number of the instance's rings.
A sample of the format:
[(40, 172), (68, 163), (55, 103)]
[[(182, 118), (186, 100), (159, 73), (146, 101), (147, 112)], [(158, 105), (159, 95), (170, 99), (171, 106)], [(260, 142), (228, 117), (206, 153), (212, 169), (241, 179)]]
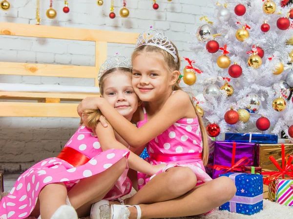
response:
[(92, 66), (0, 62), (0, 74), (96, 78), (97, 70)]

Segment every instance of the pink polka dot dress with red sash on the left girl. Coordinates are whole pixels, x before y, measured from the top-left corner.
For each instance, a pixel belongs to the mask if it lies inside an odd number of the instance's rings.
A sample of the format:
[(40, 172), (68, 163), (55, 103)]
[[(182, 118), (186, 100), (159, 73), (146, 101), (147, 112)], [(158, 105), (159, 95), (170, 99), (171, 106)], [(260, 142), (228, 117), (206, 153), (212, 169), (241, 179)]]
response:
[[(78, 128), (63, 151), (66, 149), (81, 154), (86, 159), (86, 163), (73, 166), (58, 156), (33, 165), (21, 174), (10, 193), (0, 201), (1, 219), (27, 218), (35, 208), (40, 191), (49, 183), (63, 182), (69, 191), (81, 179), (102, 173), (123, 157), (129, 156), (129, 151), (126, 149), (102, 151), (91, 129), (84, 126)], [(131, 181), (127, 178), (127, 172), (128, 166), (104, 199), (113, 200), (131, 191)]]

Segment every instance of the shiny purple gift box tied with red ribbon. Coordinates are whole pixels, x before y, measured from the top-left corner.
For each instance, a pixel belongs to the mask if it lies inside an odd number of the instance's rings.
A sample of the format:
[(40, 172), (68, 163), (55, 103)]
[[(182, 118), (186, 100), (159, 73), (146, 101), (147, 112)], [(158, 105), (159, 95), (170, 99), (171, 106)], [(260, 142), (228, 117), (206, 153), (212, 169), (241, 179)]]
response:
[[(253, 143), (210, 142), (209, 161), (206, 171), (212, 179), (227, 172), (241, 172), (242, 165), (254, 163), (256, 145)], [(258, 164), (256, 164), (258, 165)]]

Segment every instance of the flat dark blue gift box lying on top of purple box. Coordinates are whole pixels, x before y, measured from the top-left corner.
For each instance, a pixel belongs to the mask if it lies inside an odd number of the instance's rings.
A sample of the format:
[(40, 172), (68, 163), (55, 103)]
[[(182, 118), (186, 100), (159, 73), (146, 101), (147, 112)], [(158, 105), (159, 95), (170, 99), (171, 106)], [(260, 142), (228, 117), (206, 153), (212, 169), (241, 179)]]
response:
[(258, 132), (255, 133), (225, 133), (226, 142), (249, 142), (261, 144), (277, 144), (277, 135), (264, 135)]

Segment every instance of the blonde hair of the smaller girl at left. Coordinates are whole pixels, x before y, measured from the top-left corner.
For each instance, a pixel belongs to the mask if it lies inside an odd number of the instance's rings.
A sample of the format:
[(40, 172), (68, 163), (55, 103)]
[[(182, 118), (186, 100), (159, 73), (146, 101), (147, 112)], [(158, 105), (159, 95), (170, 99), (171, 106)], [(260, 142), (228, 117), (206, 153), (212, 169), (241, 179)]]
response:
[[(120, 72), (120, 73), (129, 73), (129, 75), (131, 76), (131, 72), (130, 72), (130, 69), (128, 68), (124, 68), (124, 67), (118, 67), (118, 68), (113, 68), (113, 69), (110, 69), (108, 71), (106, 71), (103, 76), (100, 78), (100, 81), (99, 81), (99, 87), (100, 87), (100, 93), (103, 95), (104, 94), (104, 82), (105, 80), (110, 76), (111, 73), (117, 73), (117, 72)], [(86, 121), (80, 123), (80, 125), (84, 125), (88, 128), (95, 128), (99, 119), (100, 119), (100, 116), (103, 115), (102, 112), (100, 110), (85, 110), (83, 112), (84, 115), (86, 115)]]

